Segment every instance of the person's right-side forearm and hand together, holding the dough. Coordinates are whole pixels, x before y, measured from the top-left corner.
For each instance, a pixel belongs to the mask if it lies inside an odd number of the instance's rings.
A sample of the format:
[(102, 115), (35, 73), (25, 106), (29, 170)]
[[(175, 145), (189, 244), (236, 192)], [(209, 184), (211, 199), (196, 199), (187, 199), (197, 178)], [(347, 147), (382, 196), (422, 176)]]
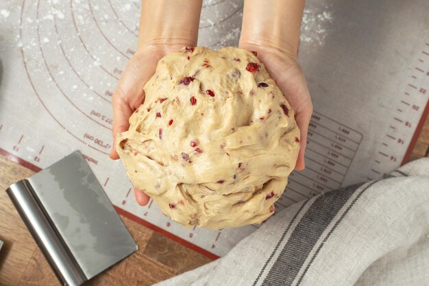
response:
[(304, 0), (245, 0), (239, 47), (257, 51), (295, 111), (301, 148), (295, 169), (304, 169), (312, 103), (306, 79), (297, 63)]

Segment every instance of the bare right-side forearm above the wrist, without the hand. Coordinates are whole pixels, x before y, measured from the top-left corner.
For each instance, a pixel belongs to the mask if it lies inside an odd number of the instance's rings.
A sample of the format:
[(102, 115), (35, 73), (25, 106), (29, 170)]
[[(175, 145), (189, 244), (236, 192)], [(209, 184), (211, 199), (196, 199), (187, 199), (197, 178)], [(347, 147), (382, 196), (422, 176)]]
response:
[(304, 0), (245, 0), (240, 45), (266, 46), (296, 58)]

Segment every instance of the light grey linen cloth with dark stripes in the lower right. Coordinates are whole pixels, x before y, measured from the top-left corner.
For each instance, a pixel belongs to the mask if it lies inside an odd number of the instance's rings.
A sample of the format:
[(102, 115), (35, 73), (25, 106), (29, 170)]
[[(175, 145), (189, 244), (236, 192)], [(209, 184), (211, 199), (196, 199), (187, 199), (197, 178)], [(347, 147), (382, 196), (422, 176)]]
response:
[(429, 158), (284, 209), (161, 285), (429, 285)]

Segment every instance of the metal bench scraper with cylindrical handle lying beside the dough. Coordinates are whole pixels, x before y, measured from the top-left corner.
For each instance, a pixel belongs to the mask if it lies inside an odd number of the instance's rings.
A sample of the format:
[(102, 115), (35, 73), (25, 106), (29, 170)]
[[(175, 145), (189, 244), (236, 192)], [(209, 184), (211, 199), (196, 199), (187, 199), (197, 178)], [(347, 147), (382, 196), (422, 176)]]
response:
[(82, 285), (137, 250), (79, 151), (7, 192), (62, 285)]

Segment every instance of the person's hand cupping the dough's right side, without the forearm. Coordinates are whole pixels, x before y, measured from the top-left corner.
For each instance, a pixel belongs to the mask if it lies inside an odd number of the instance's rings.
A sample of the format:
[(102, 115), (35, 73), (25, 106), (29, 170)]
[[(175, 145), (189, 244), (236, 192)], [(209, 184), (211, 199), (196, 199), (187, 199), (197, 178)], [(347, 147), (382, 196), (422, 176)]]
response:
[(258, 58), (291, 104), (301, 132), (300, 149), (295, 169), (304, 169), (304, 153), (307, 145), (308, 124), (312, 115), (312, 102), (301, 67), (293, 55), (288, 55), (284, 51), (247, 43), (241, 43), (240, 47), (258, 53)]

